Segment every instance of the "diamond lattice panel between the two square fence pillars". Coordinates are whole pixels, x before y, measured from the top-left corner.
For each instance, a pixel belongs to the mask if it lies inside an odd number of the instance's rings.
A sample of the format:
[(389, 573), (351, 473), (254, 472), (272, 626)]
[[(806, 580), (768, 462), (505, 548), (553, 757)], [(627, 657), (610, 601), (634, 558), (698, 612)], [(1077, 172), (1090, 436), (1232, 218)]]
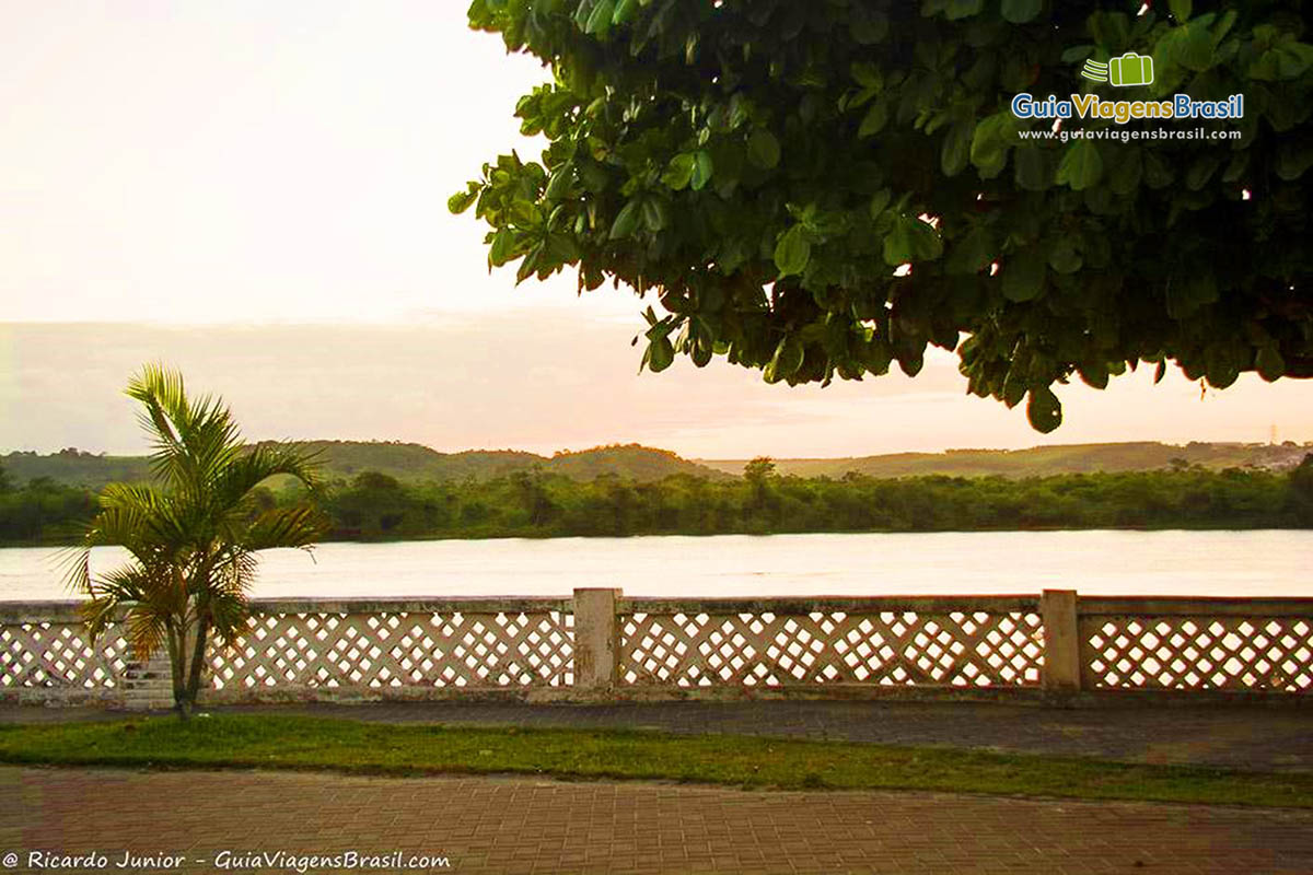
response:
[(1044, 662), (1031, 611), (632, 614), (621, 634), (629, 685), (1028, 686)]

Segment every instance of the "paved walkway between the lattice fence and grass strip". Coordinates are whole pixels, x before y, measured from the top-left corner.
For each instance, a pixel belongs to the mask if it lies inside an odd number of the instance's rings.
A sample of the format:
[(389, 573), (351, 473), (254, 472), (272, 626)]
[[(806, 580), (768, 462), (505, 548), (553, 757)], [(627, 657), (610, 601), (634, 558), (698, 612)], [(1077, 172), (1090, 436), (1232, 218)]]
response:
[[(1061, 708), (978, 702), (414, 702), (213, 710), (314, 714), (386, 723), (725, 732), (1184, 762), (1260, 771), (1313, 770), (1313, 707), (1308, 706)], [(0, 707), (0, 723), (122, 718), (122, 712), (97, 708)]]

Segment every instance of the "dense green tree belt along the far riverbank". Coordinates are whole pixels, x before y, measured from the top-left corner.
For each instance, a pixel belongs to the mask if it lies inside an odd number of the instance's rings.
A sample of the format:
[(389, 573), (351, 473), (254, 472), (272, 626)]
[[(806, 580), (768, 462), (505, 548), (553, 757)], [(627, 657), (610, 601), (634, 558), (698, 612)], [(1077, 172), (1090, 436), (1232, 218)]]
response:
[[(303, 499), (257, 491), (268, 508)], [(1313, 455), (1289, 474), (1178, 462), (1158, 471), (1006, 479), (779, 476), (765, 459), (734, 480), (675, 475), (572, 480), (544, 470), (491, 480), (403, 483), (378, 472), (316, 497), (336, 539), (499, 535), (765, 534), (1007, 529), (1266, 529), (1313, 526)], [(0, 539), (58, 542), (95, 506), (49, 481), (0, 493)]]

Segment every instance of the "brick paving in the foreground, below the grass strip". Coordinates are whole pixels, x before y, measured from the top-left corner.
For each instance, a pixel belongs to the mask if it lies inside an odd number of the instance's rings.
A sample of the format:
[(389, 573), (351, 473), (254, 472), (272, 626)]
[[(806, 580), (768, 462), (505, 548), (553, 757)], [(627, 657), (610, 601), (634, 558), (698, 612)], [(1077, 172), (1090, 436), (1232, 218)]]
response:
[(188, 862), (152, 871), (209, 872), (222, 871), (223, 850), (351, 849), (445, 855), (450, 871), (508, 874), (1313, 871), (1306, 811), (17, 767), (0, 767), (0, 854), (21, 855), (11, 871), (35, 871), (25, 866), (33, 850), (100, 851), (110, 868), (129, 850), (177, 853)]

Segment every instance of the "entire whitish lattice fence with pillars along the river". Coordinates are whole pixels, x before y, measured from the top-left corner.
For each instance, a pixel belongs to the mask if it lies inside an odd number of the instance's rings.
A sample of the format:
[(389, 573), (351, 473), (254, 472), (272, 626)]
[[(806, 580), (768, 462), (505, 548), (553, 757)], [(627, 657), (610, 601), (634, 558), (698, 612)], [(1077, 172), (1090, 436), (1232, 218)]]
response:
[[(1313, 695), (1309, 598), (658, 600), (576, 590), (574, 600), (257, 600), (252, 609), (240, 641), (211, 648), (215, 701), (337, 695), (330, 689), (348, 698), (551, 687), (604, 695), (617, 683)], [(3, 701), (126, 701), (139, 691), (140, 678), (125, 683), (130, 665), (122, 630), (91, 644), (76, 602), (0, 602)]]

